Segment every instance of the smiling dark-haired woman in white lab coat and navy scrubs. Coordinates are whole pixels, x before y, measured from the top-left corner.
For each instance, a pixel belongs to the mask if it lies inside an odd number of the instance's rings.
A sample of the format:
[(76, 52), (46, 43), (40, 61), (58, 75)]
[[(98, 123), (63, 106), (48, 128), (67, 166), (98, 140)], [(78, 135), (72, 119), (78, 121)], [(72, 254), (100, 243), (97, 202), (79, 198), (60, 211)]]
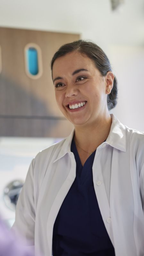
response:
[(143, 256), (144, 134), (109, 114), (117, 97), (109, 60), (79, 40), (60, 47), (51, 68), (74, 130), (32, 161), (13, 228), (45, 256)]

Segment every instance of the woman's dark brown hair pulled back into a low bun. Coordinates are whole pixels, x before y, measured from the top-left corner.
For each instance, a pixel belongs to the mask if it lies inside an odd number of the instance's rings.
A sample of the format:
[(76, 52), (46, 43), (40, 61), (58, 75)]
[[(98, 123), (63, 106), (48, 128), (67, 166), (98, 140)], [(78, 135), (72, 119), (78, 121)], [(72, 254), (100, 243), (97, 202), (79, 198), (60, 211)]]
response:
[[(54, 61), (57, 58), (64, 56), (73, 51), (77, 51), (83, 55), (88, 56), (89, 59), (91, 59), (94, 62), (96, 68), (99, 70), (102, 76), (105, 76), (108, 71), (112, 71), (111, 64), (106, 54), (104, 53), (104, 51), (96, 44), (89, 41), (84, 41), (84, 40), (78, 40), (72, 43), (62, 45), (58, 49), (58, 51), (55, 52), (52, 58), (51, 70), (53, 69)], [(116, 104), (117, 104), (117, 80), (114, 77), (113, 89), (111, 90), (111, 93), (107, 95), (108, 109), (111, 110), (116, 106)]]

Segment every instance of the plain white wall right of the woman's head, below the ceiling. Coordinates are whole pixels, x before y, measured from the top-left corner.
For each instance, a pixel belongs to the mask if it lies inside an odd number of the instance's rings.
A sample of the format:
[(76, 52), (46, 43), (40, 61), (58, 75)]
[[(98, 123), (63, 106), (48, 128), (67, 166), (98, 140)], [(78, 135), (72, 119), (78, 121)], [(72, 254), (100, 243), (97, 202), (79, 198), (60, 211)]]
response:
[(118, 80), (118, 103), (112, 113), (144, 132), (144, 47), (111, 46), (109, 51)]

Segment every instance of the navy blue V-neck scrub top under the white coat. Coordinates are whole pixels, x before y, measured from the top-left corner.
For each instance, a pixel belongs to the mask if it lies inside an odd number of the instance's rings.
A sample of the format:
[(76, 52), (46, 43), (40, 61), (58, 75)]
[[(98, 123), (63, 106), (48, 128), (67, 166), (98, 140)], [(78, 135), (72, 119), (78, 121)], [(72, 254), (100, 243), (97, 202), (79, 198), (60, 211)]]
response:
[(114, 256), (94, 190), (92, 165), (96, 150), (82, 166), (74, 140), (76, 178), (67, 193), (53, 228), (53, 256)]

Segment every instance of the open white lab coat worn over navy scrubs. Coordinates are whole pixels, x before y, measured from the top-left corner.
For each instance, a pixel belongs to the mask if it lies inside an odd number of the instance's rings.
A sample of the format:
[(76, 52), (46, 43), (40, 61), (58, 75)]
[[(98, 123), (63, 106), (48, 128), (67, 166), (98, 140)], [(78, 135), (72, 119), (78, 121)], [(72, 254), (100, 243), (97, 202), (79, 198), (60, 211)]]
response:
[[(111, 116), (108, 138), (94, 158), (94, 189), (115, 255), (143, 256), (144, 133)], [(76, 176), (73, 132), (32, 160), (19, 196), (13, 228), (35, 246), (36, 255), (52, 255), (55, 218)]]

